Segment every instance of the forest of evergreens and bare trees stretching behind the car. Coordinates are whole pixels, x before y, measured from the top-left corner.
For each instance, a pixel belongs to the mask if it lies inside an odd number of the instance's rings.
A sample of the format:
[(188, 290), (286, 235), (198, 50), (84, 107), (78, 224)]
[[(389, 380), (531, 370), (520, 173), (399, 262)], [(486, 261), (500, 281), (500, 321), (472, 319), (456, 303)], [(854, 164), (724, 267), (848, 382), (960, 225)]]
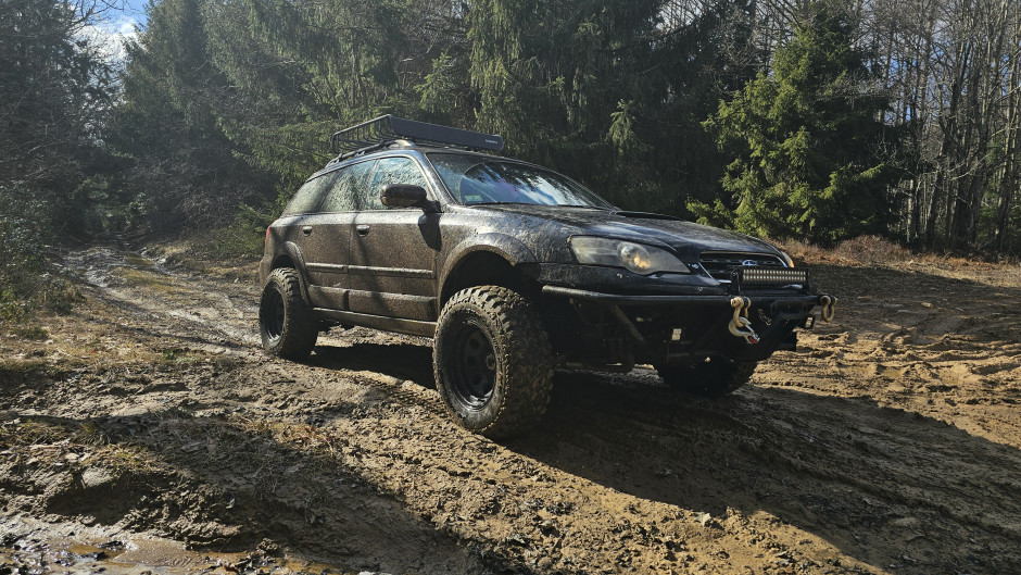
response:
[(1017, 0), (150, 0), (114, 61), (83, 32), (116, 4), (0, 0), (8, 303), (62, 238), (260, 249), (330, 134), (381, 114), (631, 210), (1021, 255)]

